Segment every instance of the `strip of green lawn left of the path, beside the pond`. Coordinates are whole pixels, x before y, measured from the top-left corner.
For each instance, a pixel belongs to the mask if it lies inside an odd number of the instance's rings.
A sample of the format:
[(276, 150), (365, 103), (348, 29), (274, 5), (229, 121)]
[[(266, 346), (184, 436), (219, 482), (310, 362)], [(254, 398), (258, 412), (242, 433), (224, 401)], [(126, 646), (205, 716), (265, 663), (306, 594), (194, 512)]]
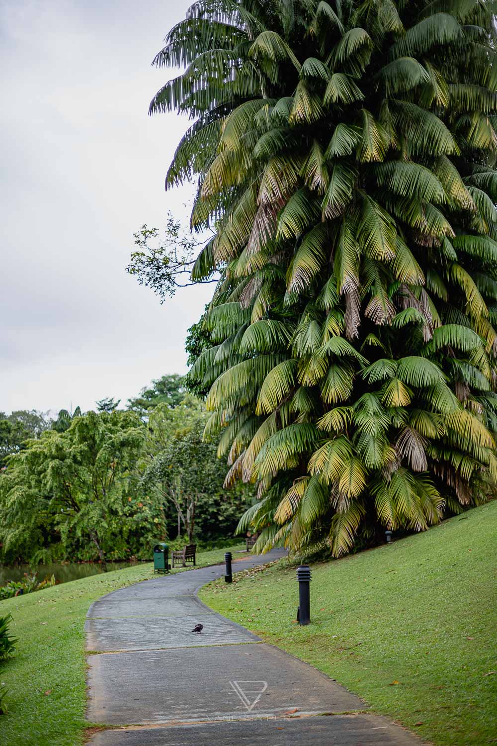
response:
[[(224, 561), (224, 551), (197, 554), (197, 566)], [(12, 614), (10, 630), (19, 638), (15, 655), (0, 668), (0, 685), (9, 690), (7, 715), (0, 715), (1, 746), (83, 743), (86, 612), (106, 593), (152, 576), (151, 563), (139, 564), (0, 601), (0, 616)]]

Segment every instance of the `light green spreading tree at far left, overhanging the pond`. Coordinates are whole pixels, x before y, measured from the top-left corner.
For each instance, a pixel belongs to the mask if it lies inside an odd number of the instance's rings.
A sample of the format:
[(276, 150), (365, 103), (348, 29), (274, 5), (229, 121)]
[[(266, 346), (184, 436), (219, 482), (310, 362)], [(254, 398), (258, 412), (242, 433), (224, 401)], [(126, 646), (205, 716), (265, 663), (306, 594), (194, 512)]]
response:
[(4, 556), (32, 558), (60, 542), (75, 552), (85, 548), (91, 558), (91, 542), (105, 567), (106, 554), (116, 545), (122, 549), (130, 528), (139, 528), (133, 501), (144, 440), (145, 427), (135, 414), (89, 412), (62, 433), (48, 430), (28, 441), (0, 477)]

